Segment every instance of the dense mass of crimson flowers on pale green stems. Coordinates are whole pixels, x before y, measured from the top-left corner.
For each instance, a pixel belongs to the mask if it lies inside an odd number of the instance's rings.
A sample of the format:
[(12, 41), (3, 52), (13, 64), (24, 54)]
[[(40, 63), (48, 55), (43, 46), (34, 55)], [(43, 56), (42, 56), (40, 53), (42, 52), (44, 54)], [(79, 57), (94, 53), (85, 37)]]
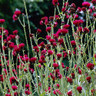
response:
[(77, 9), (68, 2), (59, 9), (59, 0), (52, 0), (52, 4), (58, 9), (54, 16), (40, 20), (46, 27), (45, 38), (39, 37), (43, 34), (40, 28), (31, 33), (29, 23), (29, 37), (26, 35), (20, 10), (14, 12), (13, 20), (22, 25), (26, 43), (19, 40), (18, 30), (10, 34), (3, 28), (5, 20), (0, 19), (0, 88), (4, 96), (95, 96), (96, 0), (92, 0), (93, 7), (83, 2)]

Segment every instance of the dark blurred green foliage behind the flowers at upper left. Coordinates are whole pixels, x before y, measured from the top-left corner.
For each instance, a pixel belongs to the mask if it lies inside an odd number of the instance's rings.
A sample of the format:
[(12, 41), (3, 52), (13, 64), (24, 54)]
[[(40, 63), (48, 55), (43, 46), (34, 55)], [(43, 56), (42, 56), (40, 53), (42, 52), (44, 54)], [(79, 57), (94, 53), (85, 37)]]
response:
[[(48, 1), (43, 2), (43, 0), (34, 0), (33, 2), (31, 0), (27, 1), (27, 8), (29, 17), (32, 18), (33, 16), (38, 15), (44, 16), (44, 11), (48, 9)], [(5, 19), (6, 22), (4, 24), (4, 28), (8, 29), (9, 33), (12, 33), (13, 30), (18, 29), (21, 42), (24, 41), (24, 35), (22, 32), (22, 27), (19, 25), (19, 22), (14, 22), (12, 19), (12, 16), (14, 14), (14, 11), (17, 9), (20, 9), (22, 12), (24, 12), (24, 5), (23, 0), (0, 0), (0, 19)], [(30, 21), (31, 28), (34, 31), (37, 27), (36, 24)], [(39, 24), (39, 21), (38, 21)]]

